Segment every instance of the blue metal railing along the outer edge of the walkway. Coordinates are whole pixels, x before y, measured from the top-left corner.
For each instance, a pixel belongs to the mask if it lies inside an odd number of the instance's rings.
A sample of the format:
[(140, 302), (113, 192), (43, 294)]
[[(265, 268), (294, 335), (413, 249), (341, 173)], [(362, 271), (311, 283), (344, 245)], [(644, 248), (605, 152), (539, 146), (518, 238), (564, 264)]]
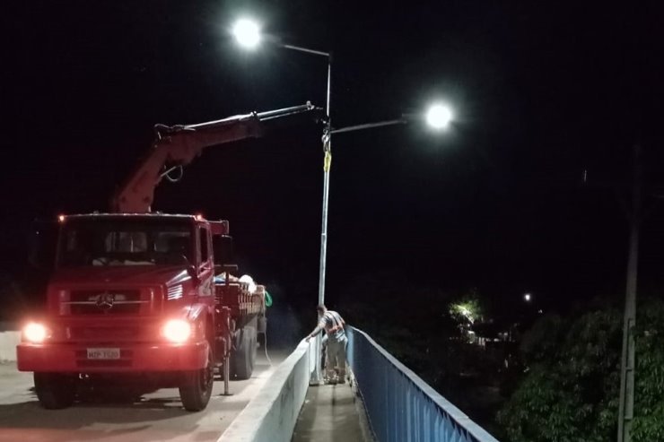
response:
[(498, 442), (368, 334), (346, 332), (348, 364), (379, 442)]

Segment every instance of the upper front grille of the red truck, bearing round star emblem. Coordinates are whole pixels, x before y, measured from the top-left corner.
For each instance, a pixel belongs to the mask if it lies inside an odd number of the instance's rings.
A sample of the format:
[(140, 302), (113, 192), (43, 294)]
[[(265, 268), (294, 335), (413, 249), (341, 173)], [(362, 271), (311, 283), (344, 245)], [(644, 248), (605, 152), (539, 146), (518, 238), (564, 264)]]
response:
[(73, 290), (63, 305), (70, 315), (137, 315), (147, 303), (140, 290)]

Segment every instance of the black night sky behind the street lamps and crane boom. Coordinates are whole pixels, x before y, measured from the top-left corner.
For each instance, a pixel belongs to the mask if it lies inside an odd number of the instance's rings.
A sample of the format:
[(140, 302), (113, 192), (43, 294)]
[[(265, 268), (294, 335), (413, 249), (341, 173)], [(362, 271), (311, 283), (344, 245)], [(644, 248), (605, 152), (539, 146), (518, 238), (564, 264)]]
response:
[[(437, 98), (457, 116), (446, 134), (411, 124), (334, 138), (330, 303), (358, 278), (385, 274), (455, 293), (476, 288), (502, 306), (525, 291), (547, 308), (620, 296), (627, 221), (616, 195), (627, 190), (634, 143), (644, 152), (646, 194), (664, 186), (657, 4), (7, 4), (3, 279), (29, 279), (32, 220), (108, 209), (155, 123), (307, 100), (324, 106), (324, 58), (234, 45), (232, 22), (251, 14), (284, 42), (334, 53), (335, 127), (392, 119)], [(300, 125), (208, 150), (182, 182), (159, 187), (153, 209), (228, 219), (241, 269), (289, 302), (313, 306), (320, 134), (320, 126)], [(646, 199), (640, 288), (661, 294), (657, 201)]]

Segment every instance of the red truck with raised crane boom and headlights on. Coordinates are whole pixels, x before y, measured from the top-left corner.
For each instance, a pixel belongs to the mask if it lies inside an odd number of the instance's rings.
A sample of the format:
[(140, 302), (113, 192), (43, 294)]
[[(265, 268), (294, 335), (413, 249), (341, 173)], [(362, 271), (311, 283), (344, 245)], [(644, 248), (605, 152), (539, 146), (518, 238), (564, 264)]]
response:
[[(251, 376), (265, 290), (232, 276), (229, 224), (152, 212), (162, 178), (205, 147), (261, 136), (278, 122), (319, 121), (307, 105), (191, 126), (155, 126), (156, 141), (112, 199), (112, 212), (60, 215), (44, 316), (22, 330), (18, 368), (39, 403), (74, 403), (83, 386), (179, 387), (184, 408), (209, 402), (218, 369)], [(273, 123), (275, 120), (275, 123)]]

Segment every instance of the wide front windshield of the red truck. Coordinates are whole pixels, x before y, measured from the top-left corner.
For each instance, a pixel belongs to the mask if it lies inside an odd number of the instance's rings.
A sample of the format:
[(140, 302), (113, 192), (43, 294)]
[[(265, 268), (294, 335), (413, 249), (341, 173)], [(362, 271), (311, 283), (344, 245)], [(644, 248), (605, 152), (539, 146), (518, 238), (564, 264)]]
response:
[(188, 219), (69, 219), (60, 233), (57, 264), (174, 265), (192, 261)]

